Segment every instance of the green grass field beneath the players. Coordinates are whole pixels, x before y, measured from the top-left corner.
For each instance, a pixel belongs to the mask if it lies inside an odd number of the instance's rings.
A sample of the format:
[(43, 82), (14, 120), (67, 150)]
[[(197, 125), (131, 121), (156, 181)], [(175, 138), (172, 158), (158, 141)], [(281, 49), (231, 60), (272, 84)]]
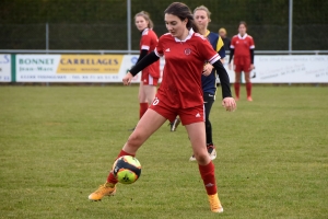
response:
[[(245, 92), (244, 88), (242, 89)], [(0, 218), (328, 218), (328, 88), (255, 87), (211, 113), (223, 214), (184, 127), (138, 151), (140, 180), (87, 200), (138, 122), (137, 87), (0, 87)]]

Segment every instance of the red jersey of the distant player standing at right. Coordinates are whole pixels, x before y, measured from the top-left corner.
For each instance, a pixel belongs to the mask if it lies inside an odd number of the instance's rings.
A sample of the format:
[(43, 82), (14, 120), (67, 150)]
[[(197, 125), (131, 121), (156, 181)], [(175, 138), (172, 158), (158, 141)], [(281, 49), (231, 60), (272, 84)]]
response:
[(249, 36), (248, 34), (245, 34), (243, 37), (241, 34), (234, 35), (233, 38), (231, 39), (231, 48), (235, 49), (234, 56), (235, 58), (238, 57), (249, 57), (250, 58), (250, 53), (249, 49), (254, 49), (254, 41), (253, 37)]

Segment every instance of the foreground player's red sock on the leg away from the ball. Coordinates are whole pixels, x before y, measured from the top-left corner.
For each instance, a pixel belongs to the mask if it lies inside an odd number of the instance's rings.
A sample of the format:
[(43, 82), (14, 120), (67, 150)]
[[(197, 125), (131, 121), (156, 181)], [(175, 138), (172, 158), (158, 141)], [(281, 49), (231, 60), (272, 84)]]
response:
[(216, 183), (215, 183), (215, 175), (214, 175), (214, 164), (211, 161), (207, 165), (199, 165), (199, 172), (201, 178), (203, 181), (203, 185), (206, 186), (208, 195), (214, 195), (218, 193), (216, 191)]

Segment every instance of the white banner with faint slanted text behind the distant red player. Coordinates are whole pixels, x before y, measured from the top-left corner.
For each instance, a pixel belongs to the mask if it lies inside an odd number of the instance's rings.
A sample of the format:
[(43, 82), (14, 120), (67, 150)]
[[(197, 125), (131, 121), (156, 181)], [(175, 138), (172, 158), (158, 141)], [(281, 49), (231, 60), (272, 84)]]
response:
[[(235, 73), (225, 69), (231, 82)], [(321, 55), (279, 55), (255, 56), (255, 69), (250, 72), (253, 83), (328, 83), (328, 56)], [(244, 77), (244, 76), (243, 76)], [(242, 81), (245, 82), (244, 78)]]

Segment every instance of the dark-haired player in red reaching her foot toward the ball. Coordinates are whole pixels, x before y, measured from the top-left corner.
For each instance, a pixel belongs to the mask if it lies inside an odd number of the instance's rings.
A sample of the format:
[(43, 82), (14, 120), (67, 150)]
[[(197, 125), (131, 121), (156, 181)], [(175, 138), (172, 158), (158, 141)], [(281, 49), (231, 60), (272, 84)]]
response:
[[(166, 119), (173, 120), (179, 115), (190, 138), (199, 172), (206, 187), (210, 207), (213, 212), (222, 212), (214, 176), (214, 165), (206, 148), (206, 130), (203, 125), (203, 100), (201, 74), (204, 61), (209, 61), (216, 71), (222, 84), (222, 105), (226, 111), (234, 111), (236, 102), (231, 95), (229, 76), (220, 61), (219, 54), (207, 38), (196, 33), (197, 26), (190, 9), (180, 2), (174, 2), (164, 11), (168, 33), (161, 36), (154, 51), (147, 55), (128, 72), (122, 81), (130, 84), (133, 76), (150, 64), (165, 56), (165, 72), (150, 110), (141, 117), (134, 131), (118, 154), (136, 155), (142, 143), (156, 131)], [(195, 31), (196, 32), (195, 32)], [(117, 180), (113, 172), (107, 182), (89, 196), (99, 200), (106, 195), (116, 193)]]

